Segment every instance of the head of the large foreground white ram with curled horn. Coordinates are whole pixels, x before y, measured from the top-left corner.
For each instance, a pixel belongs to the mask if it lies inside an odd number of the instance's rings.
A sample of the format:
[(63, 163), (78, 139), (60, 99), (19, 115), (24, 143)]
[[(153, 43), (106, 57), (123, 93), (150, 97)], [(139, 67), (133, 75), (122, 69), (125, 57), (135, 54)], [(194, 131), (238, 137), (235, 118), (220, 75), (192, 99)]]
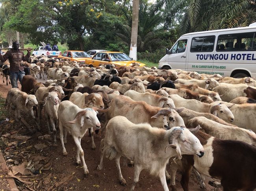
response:
[(170, 129), (171, 133), (176, 130), (181, 131), (177, 138), (173, 139), (173, 145), (176, 146), (176, 152), (178, 158), (181, 159), (181, 155), (195, 155), (202, 157), (204, 155), (204, 147), (198, 140), (198, 138), (189, 131), (189, 129), (183, 127), (173, 127)]

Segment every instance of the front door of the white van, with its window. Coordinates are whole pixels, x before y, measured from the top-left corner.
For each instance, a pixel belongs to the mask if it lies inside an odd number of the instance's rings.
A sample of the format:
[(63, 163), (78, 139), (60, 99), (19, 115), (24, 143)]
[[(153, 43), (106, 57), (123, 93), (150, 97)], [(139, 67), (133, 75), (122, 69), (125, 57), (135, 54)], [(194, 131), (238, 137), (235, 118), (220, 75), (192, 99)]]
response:
[(187, 61), (187, 42), (189, 38), (180, 38), (170, 50), (168, 62), (171, 69), (185, 70)]

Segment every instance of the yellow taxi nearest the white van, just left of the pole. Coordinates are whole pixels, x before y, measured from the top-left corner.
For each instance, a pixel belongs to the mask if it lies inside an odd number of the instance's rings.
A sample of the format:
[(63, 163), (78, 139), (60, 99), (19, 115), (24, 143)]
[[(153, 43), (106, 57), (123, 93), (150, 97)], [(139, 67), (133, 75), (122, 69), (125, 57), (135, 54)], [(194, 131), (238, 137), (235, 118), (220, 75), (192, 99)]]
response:
[(114, 64), (116, 66), (131, 66), (132, 63), (138, 63), (139, 66), (145, 66), (141, 62), (132, 60), (129, 56), (121, 52), (98, 52), (91, 59), (86, 59), (85, 64), (93, 64), (94, 66), (102, 64)]

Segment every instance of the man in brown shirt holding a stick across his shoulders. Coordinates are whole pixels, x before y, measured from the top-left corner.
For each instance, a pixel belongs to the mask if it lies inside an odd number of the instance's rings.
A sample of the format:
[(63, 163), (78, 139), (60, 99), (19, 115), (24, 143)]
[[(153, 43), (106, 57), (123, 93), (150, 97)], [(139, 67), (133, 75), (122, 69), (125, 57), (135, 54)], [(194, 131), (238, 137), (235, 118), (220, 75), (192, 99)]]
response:
[(28, 61), (28, 58), (30, 58), (30, 51), (28, 51), (27, 55), (25, 56), (24, 53), (19, 50), (19, 47), (19, 43), (15, 41), (13, 42), (13, 48), (11, 50), (7, 51), (4, 56), (0, 54), (0, 60), (2, 62), (5, 62), (7, 59), (9, 59), (11, 85), (13, 87), (18, 87), (18, 79), (21, 84), (22, 78), (25, 75), (24, 67), (21, 62)]

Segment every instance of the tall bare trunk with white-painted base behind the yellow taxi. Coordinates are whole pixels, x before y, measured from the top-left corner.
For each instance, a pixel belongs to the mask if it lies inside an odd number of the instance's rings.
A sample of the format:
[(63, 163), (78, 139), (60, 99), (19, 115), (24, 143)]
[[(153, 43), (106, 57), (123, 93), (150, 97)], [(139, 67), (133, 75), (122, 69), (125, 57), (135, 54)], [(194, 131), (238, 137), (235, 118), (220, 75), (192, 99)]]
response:
[(130, 57), (137, 60), (137, 37), (139, 25), (139, 0), (133, 0), (132, 3), (132, 35), (130, 46)]

